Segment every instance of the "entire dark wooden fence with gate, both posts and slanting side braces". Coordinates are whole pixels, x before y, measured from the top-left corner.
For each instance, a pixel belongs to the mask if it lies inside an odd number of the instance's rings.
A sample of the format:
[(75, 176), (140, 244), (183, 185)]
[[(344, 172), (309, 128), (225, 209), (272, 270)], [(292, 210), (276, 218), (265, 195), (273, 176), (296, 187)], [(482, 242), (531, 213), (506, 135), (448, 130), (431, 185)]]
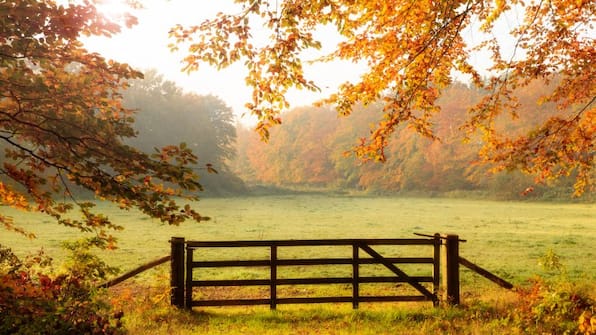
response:
[[(473, 272), (491, 280), (495, 284), (514, 289), (508, 281), (498, 277), (490, 271), (470, 262), (459, 255), (460, 240), (457, 235), (424, 235), (416, 234), (425, 239), (350, 239), (350, 240), (285, 240), (285, 241), (185, 241), (184, 238), (173, 237), (170, 240), (170, 255), (158, 258), (141, 265), (123, 275), (99, 285), (100, 288), (109, 288), (126, 279), (132, 278), (143, 271), (170, 261), (171, 265), (171, 303), (180, 308), (191, 309), (193, 306), (226, 306), (226, 305), (257, 305), (269, 304), (275, 309), (278, 304), (298, 303), (324, 303), (324, 302), (351, 302), (358, 308), (360, 302), (374, 301), (432, 301), (437, 306), (439, 301), (450, 305), (459, 304), (459, 265), (463, 265)], [(372, 246), (408, 246), (429, 245), (433, 247), (432, 257), (384, 257)], [(278, 250), (286, 247), (315, 247), (315, 246), (351, 246), (352, 257), (348, 258), (309, 258), (309, 259), (283, 259), (278, 257)], [(198, 260), (195, 251), (205, 248), (268, 248), (268, 259), (260, 260)], [(364, 251), (364, 257), (361, 257)], [(366, 256), (368, 255), (368, 256)], [(377, 264), (390, 270), (392, 276), (362, 276), (361, 265)], [(399, 267), (398, 265), (399, 264)], [(411, 276), (400, 267), (403, 264), (420, 264), (432, 266), (429, 276)], [(292, 266), (337, 266), (351, 265), (350, 277), (326, 278), (278, 278), (279, 267)], [(269, 276), (264, 279), (233, 279), (233, 280), (196, 280), (193, 269), (228, 268), (228, 267), (265, 267), (269, 268)], [(441, 270), (442, 268), (442, 270)], [(439, 279), (440, 278), (440, 279)], [(399, 296), (365, 296), (360, 293), (360, 284), (371, 283), (405, 283), (413, 287), (417, 295)], [(344, 284), (351, 285), (351, 296), (333, 297), (278, 297), (278, 287), (286, 285), (324, 285)], [(430, 284), (430, 288), (428, 287)], [(426, 285), (426, 286), (425, 286)], [(205, 287), (228, 286), (268, 286), (269, 298), (267, 299), (230, 299), (193, 300), (193, 289)], [(438, 291), (441, 286), (443, 296), (439, 299)]]

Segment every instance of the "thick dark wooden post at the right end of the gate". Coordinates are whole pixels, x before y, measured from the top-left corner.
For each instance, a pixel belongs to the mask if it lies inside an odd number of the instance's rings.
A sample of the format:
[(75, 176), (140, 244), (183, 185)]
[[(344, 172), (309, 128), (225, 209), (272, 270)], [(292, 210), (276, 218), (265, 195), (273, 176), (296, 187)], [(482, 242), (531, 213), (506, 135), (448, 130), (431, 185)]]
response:
[(459, 236), (445, 235), (443, 244), (443, 288), (445, 301), (459, 305)]

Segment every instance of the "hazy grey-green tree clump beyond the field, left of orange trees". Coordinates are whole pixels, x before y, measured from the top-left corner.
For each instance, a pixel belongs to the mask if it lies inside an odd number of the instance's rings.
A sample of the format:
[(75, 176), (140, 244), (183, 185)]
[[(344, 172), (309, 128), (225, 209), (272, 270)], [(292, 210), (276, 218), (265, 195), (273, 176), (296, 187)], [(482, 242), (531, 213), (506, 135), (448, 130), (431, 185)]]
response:
[(146, 71), (144, 79), (130, 85), (123, 93), (123, 104), (137, 111), (138, 136), (128, 143), (150, 153), (174, 139), (184, 142), (200, 161), (194, 169), (217, 171), (201, 177), (207, 192), (242, 191), (242, 181), (229, 168), (236, 154), (236, 125), (229, 106), (211, 95), (185, 93), (156, 70)]

